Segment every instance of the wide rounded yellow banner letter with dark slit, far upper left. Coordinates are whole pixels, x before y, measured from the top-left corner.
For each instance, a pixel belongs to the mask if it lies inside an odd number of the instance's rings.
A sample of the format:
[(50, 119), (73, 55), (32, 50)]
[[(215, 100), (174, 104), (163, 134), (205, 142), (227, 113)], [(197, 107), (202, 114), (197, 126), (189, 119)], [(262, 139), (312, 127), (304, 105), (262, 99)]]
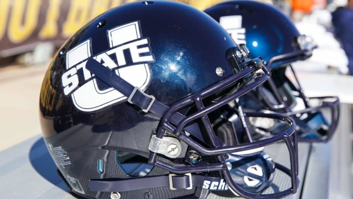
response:
[[(7, 36), (12, 43), (25, 41), (36, 28), (41, 0), (14, 0)], [(25, 10), (25, 5), (27, 9)], [(24, 14), (25, 13), (25, 14)]]

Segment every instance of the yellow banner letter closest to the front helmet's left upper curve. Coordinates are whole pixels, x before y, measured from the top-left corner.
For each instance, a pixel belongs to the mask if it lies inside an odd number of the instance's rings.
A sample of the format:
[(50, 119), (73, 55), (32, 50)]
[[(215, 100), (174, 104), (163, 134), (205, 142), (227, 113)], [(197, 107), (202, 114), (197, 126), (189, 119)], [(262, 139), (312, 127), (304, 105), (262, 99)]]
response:
[(70, 37), (88, 22), (89, 0), (72, 0), (66, 21), (62, 27), (62, 36)]

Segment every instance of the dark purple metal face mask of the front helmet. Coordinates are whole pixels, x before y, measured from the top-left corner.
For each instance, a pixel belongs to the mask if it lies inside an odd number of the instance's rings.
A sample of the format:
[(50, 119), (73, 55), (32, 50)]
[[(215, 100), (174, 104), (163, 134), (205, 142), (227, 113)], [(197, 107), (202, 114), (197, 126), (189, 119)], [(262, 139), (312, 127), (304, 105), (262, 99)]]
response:
[[(171, 171), (173, 173), (189, 173), (189, 172), (209, 172), (209, 171), (221, 171), (230, 187), (231, 190), (236, 192), (238, 195), (246, 198), (264, 198), (264, 195), (255, 195), (251, 194), (248, 192), (245, 192), (241, 190), (231, 179), (230, 173), (227, 169), (226, 166), (226, 160), (223, 156), (223, 154), (227, 153), (233, 153), (233, 152), (239, 152), (239, 151), (244, 151), (244, 150), (250, 150), (257, 148), (259, 146), (264, 146), (264, 145), (269, 145), (273, 144), (275, 142), (279, 141), (284, 141), (290, 151), (290, 160), (292, 163), (291, 164), (291, 170), (289, 171), (287, 168), (276, 164), (276, 168), (285, 172), (289, 176), (291, 176), (292, 179), (292, 187), (286, 191), (280, 192), (280, 193), (275, 193), (275, 194), (270, 194), (266, 195), (268, 198), (280, 198), (287, 196), (293, 191), (295, 192), (297, 189), (297, 165), (295, 162), (297, 161), (297, 148), (296, 146), (293, 146), (296, 144), (297, 140), (294, 139), (294, 144), (292, 143), (290, 136), (296, 136), (295, 134), (295, 125), (294, 121), (291, 120), (288, 117), (283, 117), (279, 114), (259, 114), (259, 113), (247, 113), (247, 116), (266, 116), (274, 119), (281, 119), (283, 121), (286, 121), (288, 125), (290, 126), (283, 134), (279, 134), (277, 136), (268, 138), (266, 140), (261, 140), (261, 141), (256, 141), (256, 142), (250, 142), (250, 143), (245, 143), (245, 144), (240, 144), (240, 145), (235, 145), (235, 146), (222, 146), (222, 143), (217, 142), (218, 140), (215, 137), (215, 134), (213, 132), (213, 129), (210, 125), (210, 122), (208, 121), (207, 113), (212, 112), (213, 110), (216, 110), (220, 108), (221, 106), (224, 106), (228, 102), (234, 100), (235, 98), (239, 97), (239, 93), (234, 93), (233, 95), (228, 96), (227, 98), (222, 99), (221, 101), (218, 101), (217, 104), (213, 104), (207, 107), (203, 106), (202, 103), (202, 98), (203, 96), (208, 96), (212, 92), (207, 92), (211, 91), (212, 89), (205, 89), (204, 91), (201, 91), (200, 94), (195, 94), (193, 96), (190, 96), (189, 98), (180, 101), (173, 106), (170, 107), (168, 112), (163, 116), (160, 126), (157, 130), (156, 136), (158, 138), (162, 138), (164, 136), (164, 131), (172, 132), (176, 137), (178, 137), (181, 141), (192, 145), (195, 150), (200, 152), (203, 155), (219, 155), (218, 160), (220, 163), (215, 163), (215, 164), (207, 164), (207, 165), (195, 165), (195, 166), (187, 166), (187, 167), (175, 167), (173, 165), (170, 165), (166, 162), (163, 162), (161, 160), (158, 160), (157, 153), (151, 152), (149, 163), (154, 164), (156, 166), (159, 166), (163, 169), (166, 169), (168, 171)], [(238, 90), (240, 91), (240, 90)], [(175, 127), (173, 124), (169, 122), (169, 118), (176, 113), (177, 110), (187, 107), (195, 103), (197, 107), (199, 108), (199, 111), (197, 111), (194, 114), (191, 114), (187, 117), (185, 117), (183, 120), (179, 122), (179, 124)], [(212, 140), (212, 148), (206, 148), (202, 144), (199, 144), (195, 140), (193, 140), (191, 137), (187, 136), (186, 134), (182, 133), (182, 130), (184, 127), (194, 121), (195, 119), (200, 118), (202, 120), (203, 125), (205, 126), (205, 131), (207, 133), (207, 136), (210, 137), (209, 140)]]

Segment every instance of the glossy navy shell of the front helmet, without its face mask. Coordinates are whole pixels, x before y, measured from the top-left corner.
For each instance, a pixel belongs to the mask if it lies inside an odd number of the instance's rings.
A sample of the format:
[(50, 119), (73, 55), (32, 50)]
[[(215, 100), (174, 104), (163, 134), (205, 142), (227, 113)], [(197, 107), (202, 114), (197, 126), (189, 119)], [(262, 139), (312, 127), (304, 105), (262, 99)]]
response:
[[(128, 46), (141, 40), (142, 46)], [(53, 57), (40, 93), (44, 140), (72, 191), (89, 198), (109, 198), (110, 193), (90, 191), (88, 180), (131, 176), (121, 156), (133, 153), (145, 160), (151, 134), (160, 120), (94, 78), (84, 66), (88, 57), (118, 68), (116, 73), (121, 77), (169, 106), (234, 74), (226, 57), (227, 49), (234, 46), (227, 31), (211, 17), (186, 4), (168, 1), (122, 5), (79, 29)], [(146, 59), (136, 60), (132, 52), (136, 49), (139, 57)], [(223, 69), (222, 76), (216, 73), (218, 67)], [(150, 167), (145, 174), (166, 173)], [(164, 187), (153, 194), (174, 198), (194, 191), (171, 192)], [(145, 192), (121, 194), (137, 198)]]

